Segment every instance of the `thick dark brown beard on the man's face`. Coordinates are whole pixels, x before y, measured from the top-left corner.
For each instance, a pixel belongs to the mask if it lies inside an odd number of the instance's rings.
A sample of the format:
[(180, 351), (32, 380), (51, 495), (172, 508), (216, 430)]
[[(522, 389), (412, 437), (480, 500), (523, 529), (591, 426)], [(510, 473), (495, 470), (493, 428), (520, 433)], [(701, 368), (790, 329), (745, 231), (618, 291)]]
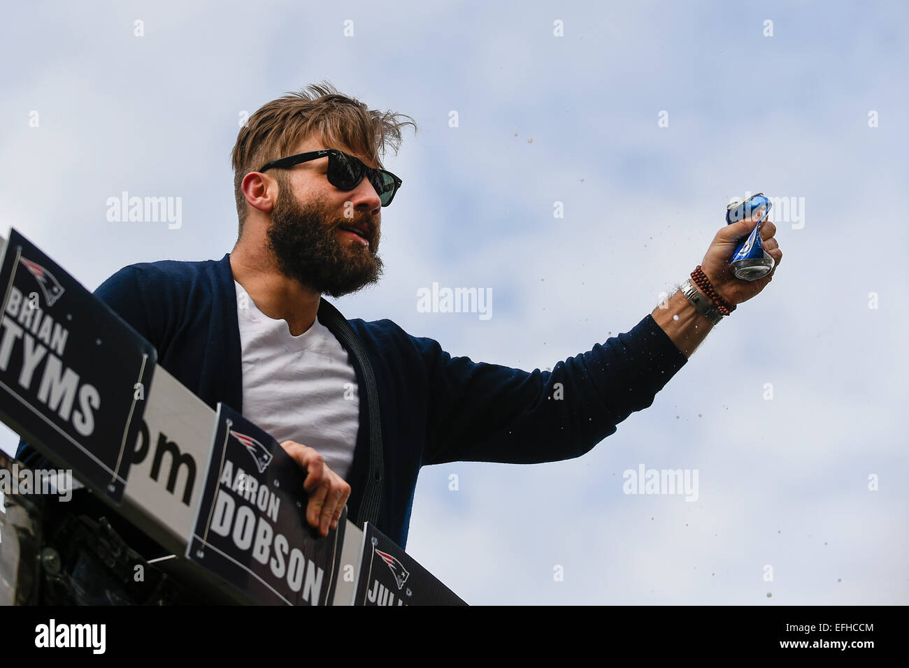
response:
[[(379, 228), (374, 216), (363, 212), (354, 218), (334, 218), (324, 200), (300, 204), (286, 179), (279, 179), (278, 185), (267, 234), (282, 274), (333, 297), (378, 283), (383, 264), (377, 254)], [(372, 227), (368, 246), (339, 238), (340, 227), (357, 223)]]

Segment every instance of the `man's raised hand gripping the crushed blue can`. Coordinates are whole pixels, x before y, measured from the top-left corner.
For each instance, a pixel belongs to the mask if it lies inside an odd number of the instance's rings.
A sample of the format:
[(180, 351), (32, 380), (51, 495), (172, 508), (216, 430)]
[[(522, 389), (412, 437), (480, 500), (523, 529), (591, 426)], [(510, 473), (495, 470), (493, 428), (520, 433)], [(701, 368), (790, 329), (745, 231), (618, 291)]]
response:
[(714, 290), (730, 304), (742, 304), (764, 290), (764, 287), (774, 279), (774, 274), (783, 260), (783, 251), (780, 250), (780, 244), (777, 244), (774, 239), (776, 225), (769, 220), (764, 221), (761, 224), (761, 241), (764, 244), (764, 250), (774, 258), (776, 263), (774, 270), (756, 281), (735, 278), (729, 268), (729, 260), (739, 244), (748, 234), (751, 234), (755, 223), (754, 220), (742, 220), (725, 225), (714, 236), (714, 241), (707, 249), (707, 254), (704, 255), (704, 262), (701, 263), (704, 274), (707, 274), (707, 279), (714, 286)]

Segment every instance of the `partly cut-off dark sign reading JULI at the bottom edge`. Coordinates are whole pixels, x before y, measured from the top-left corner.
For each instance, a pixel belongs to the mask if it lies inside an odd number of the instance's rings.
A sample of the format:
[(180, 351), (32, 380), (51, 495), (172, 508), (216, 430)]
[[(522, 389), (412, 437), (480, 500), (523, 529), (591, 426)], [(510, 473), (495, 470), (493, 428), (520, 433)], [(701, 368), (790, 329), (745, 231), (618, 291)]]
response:
[(366, 523), (355, 605), (466, 605), (412, 556)]

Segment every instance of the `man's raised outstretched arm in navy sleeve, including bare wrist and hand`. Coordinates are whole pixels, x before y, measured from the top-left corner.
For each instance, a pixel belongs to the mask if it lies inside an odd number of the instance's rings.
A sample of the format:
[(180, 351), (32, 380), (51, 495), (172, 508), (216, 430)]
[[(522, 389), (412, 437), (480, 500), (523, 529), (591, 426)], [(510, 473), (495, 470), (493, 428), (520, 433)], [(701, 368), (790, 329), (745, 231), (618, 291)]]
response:
[[(750, 299), (773, 278), (772, 272), (748, 282), (729, 272), (729, 258), (753, 227), (751, 221), (726, 225), (704, 256), (704, 274), (728, 304)], [(778, 267), (783, 253), (775, 232), (773, 223), (763, 224), (764, 248)], [(428, 372), (424, 464), (552, 462), (592, 449), (628, 415), (653, 404), (712, 328), (681, 292), (662, 305), (629, 332), (559, 362), (552, 372), (452, 358), (432, 339), (411, 337)]]

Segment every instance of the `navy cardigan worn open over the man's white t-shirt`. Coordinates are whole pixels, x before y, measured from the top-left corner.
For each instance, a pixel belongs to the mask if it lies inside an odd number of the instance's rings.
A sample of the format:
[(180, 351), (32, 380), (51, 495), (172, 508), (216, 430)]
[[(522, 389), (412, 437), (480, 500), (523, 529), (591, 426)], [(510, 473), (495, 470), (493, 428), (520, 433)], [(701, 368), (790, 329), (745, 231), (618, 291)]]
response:
[[(95, 294), (154, 344), (158, 364), (206, 404), (243, 412), (230, 254), (131, 264)], [(391, 320), (345, 320), (325, 297), (317, 317), (351, 354), (359, 384), (349, 516), (357, 525), (375, 523), (402, 548), (424, 464), (578, 457), (653, 404), (687, 362), (650, 314), (552, 372), (530, 373), (452, 357)], [(43, 462), (28, 444), (20, 443), (18, 455), (35, 467)]]

